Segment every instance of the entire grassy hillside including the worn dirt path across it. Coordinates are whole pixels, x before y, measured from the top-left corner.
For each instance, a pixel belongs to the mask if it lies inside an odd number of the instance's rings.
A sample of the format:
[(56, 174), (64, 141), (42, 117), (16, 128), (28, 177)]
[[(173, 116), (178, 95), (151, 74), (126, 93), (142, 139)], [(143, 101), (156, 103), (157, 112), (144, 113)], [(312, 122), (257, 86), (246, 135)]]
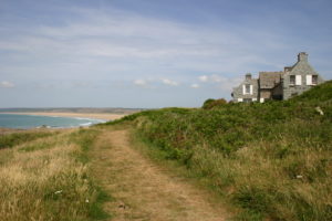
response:
[(0, 217), (332, 220), (332, 82), (286, 102), (0, 131)]

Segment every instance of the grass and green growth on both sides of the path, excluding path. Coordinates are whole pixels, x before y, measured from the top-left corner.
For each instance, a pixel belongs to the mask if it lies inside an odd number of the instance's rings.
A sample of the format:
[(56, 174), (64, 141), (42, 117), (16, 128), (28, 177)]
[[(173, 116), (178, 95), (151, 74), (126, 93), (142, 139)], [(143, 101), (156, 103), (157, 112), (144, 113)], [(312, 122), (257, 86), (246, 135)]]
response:
[[(321, 109), (323, 115), (318, 110)], [(134, 126), (152, 156), (186, 168), (240, 212), (236, 220), (332, 220), (332, 82), (286, 102), (142, 112)], [(112, 200), (93, 179), (90, 150), (107, 126), (0, 136), (3, 221), (103, 220)]]

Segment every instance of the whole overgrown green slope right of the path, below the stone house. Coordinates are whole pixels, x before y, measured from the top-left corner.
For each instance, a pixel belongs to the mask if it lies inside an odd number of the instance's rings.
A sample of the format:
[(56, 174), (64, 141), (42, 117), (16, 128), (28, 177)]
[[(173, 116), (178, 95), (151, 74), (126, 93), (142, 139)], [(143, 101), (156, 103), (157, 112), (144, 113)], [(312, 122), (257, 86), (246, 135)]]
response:
[(332, 220), (332, 82), (284, 102), (148, 110), (131, 123), (165, 159), (242, 208), (238, 220)]

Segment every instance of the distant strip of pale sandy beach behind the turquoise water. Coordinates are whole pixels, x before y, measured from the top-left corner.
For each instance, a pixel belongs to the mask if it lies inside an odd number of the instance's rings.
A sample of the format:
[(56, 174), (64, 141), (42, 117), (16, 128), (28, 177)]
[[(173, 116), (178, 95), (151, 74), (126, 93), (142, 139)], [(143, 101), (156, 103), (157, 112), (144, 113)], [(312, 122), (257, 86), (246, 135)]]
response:
[[(4, 113), (3, 113), (4, 114)], [(29, 113), (6, 113), (20, 115), (39, 115), (39, 116), (56, 116), (56, 117), (82, 117), (91, 119), (114, 120), (120, 119), (125, 114), (97, 114), (97, 113), (55, 113), (55, 112), (29, 112)]]

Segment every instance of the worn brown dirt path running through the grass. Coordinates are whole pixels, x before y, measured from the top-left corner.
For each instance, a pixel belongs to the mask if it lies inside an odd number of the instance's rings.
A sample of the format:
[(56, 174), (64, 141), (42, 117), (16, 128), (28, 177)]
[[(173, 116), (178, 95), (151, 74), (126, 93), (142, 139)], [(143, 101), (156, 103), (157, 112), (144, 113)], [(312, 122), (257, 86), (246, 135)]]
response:
[(115, 198), (105, 203), (112, 220), (221, 221), (201, 190), (169, 176), (133, 149), (127, 130), (105, 131), (93, 150), (94, 175)]

